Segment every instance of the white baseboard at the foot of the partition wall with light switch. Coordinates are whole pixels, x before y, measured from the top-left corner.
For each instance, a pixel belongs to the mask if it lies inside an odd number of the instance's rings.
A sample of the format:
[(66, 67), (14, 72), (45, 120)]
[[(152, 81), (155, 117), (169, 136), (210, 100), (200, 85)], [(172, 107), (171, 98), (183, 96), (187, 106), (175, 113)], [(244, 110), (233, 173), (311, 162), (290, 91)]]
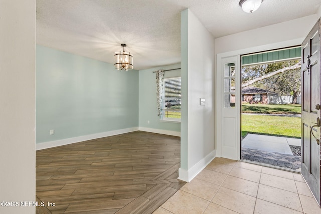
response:
[(215, 158), (215, 150), (213, 150), (210, 154), (200, 160), (197, 164), (195, 164), (192, 168), (185, 170), (179, 168), (179, 177), (177, 179), (183, 180), (185, 182), (190, 182), (193, 180), (198, 173), (200, 173), (213, 159)]

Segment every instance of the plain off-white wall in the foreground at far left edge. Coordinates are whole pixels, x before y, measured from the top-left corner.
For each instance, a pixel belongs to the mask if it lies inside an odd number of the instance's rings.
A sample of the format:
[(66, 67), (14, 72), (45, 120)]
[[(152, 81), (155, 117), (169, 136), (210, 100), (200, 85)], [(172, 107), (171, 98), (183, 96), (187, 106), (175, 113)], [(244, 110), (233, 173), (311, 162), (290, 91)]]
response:
[(0, 1), (0, 213), (35, 213), (36, 0)]

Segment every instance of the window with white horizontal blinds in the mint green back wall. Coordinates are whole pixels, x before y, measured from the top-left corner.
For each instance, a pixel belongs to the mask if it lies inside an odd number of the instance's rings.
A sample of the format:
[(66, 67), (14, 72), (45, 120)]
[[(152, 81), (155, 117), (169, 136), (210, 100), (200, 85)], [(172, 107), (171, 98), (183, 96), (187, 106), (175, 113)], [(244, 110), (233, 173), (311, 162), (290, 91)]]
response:
[(164, 78), (162, 120), (181, 121), (181, 77)]

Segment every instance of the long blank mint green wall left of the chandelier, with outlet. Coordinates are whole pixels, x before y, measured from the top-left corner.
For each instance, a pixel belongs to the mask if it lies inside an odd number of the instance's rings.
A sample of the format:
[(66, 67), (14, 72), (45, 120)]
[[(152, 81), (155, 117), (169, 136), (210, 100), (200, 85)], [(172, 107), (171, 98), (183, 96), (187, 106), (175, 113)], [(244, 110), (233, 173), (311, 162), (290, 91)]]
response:
[(36, 143), (138, 127), (138, 71), (40, 45), (36, 61)]

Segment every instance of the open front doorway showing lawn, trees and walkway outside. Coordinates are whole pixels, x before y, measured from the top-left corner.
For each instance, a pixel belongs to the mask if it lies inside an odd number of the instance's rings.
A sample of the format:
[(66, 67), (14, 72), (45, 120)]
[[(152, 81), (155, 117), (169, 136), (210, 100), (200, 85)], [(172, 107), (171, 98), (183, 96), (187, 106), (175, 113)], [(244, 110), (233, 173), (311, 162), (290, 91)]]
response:
[(301, 171), (301, 48), (241, 62), (241, 160)]

